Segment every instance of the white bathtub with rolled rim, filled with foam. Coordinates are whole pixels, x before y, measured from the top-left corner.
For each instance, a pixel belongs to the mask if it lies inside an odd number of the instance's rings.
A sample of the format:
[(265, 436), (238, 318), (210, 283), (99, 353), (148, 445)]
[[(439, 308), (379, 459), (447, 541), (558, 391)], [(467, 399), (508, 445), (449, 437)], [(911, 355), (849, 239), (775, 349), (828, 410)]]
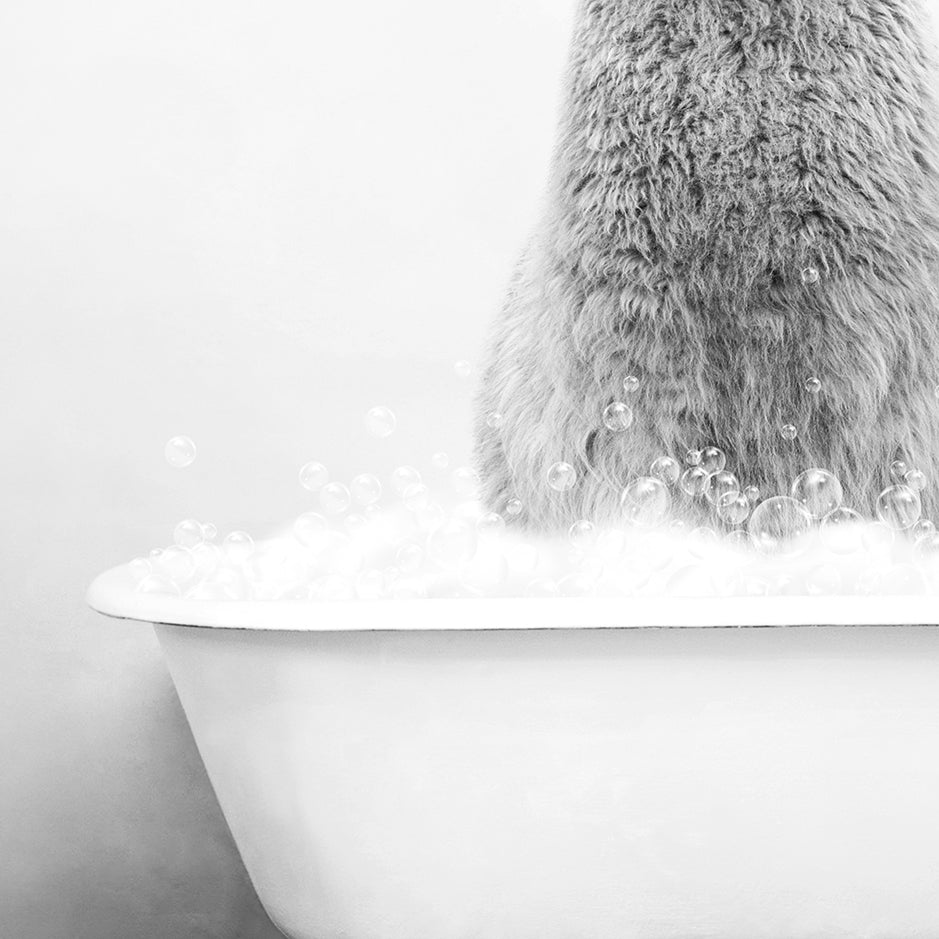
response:
[(939, 936), (937, 598), (89, 601), (292, 939)]

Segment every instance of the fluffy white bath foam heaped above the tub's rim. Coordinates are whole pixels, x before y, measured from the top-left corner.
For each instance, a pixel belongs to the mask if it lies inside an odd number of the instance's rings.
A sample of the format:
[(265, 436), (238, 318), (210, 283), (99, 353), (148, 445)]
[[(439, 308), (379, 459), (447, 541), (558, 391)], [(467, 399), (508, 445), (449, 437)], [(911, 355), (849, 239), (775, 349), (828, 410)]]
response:
[(311, 526), (311, 515), (247, 549), (172, 545), (133, 562), (128, 576), (140, 594), (215, 601), (939, 592), (935, 536), (915, 541), (881, 522), (808, 527), (757, 550), (712, 529), (674, 526), (582, 522), (567, 537), (539, 536), (494, 525), (477, 501), (434, 524), (391, 505), (351, 532), (319, 515)]

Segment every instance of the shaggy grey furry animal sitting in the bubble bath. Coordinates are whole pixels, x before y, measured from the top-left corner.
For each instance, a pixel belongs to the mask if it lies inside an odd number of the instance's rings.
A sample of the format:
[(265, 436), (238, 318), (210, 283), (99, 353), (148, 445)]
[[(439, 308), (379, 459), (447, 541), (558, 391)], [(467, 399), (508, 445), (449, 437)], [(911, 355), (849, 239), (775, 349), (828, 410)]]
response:
[[(615, 520), (653, 459), (710, 444), (766, 495), (829, 469), (869, 514), (902, 457), (936, 505), (927, 36), (915, 0), (582, 3), (548, 198), (475, 402), (492, 509)], [(626, 432), (602, 421), (617, 400)], [(578, 473), (560, 493), (559, 460)]]

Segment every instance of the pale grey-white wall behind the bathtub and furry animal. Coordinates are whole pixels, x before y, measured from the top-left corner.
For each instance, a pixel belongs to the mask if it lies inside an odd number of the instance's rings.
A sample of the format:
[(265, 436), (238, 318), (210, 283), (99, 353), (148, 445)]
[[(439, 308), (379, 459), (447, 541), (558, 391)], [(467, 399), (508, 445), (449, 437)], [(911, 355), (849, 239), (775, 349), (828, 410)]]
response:
[(570, 6), (0, 11), (0, 935), (274, 934), (150, 630), (83, 592), (181, 518), (289, 519), (306, 460), (467, 458)]

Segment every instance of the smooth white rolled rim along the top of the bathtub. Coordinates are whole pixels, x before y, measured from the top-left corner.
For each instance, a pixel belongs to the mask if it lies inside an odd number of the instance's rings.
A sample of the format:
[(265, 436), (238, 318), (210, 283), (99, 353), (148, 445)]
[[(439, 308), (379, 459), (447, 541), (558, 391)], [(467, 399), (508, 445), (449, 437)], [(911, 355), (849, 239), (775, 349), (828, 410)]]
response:
[(86, 600), (115, 619), (271, 632), (939, 626), (939, 597), (929, 594), (186, 600), (137, 593), (127, 564), (96, 577)]

